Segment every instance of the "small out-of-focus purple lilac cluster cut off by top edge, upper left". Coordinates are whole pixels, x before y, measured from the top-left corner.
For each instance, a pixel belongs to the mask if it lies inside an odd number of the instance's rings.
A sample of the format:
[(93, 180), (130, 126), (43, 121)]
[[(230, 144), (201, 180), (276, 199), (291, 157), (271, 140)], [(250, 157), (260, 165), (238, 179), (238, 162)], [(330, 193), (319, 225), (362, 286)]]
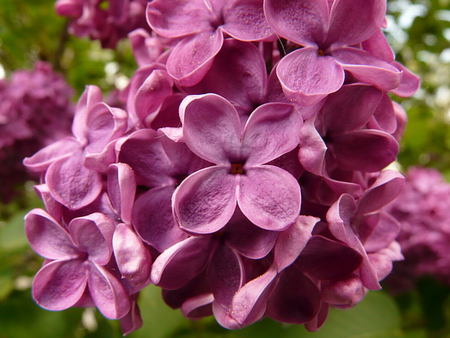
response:
[(120, 39), (137, 28), (148, 28), (145, 6), (148, 0), (58, 0), (56, 12), (70, 18), (69, 31), (78, 37), (99, 40), (114, 48)]

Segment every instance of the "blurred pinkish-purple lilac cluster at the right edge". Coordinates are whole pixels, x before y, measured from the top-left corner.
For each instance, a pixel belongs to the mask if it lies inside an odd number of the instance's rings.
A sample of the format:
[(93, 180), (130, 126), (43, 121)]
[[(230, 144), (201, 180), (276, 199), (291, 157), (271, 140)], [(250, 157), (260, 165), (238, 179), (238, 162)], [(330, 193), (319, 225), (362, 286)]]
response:
[(392, 292), (412, 289), (423, 276), (450, 285), (449, 196), (450, 184), (439, 171), (412, 167), (402, 193), (386, 207), (402, 224), (397, 241), (405, 256), (386, 280)]

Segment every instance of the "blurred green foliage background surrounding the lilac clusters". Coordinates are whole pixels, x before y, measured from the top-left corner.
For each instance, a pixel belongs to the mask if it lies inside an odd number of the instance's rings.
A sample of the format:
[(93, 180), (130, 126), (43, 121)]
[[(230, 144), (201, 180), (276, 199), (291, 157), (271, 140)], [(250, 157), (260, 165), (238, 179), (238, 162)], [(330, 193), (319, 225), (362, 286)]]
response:
[[(98, 42), (67, 33), (68, 22), (54, 13), (54, 0), (0, 0), (0, 65), (8, 76), (50, 62), (76, 89), (98, 85), (106, 94), (123, 85), (136, 69), (128, 42), (103, 50)], [(397, 59), (422, 78), (412, 98), (395, 98), (408, 114), (399, 162), (438, 168), (450, 179), (450, 0), (389, 0), (386, 33)], [(41, 203), (28, 189), (26, 199), (0, 205), (0, 338), (88, 338), (121, 336), (118, 321), (98, 311), (49, 312), (31, 297), (31, 280), (42, 264), (28, 246), (23, 216)], [(356, 307), (332, 310), (316, 333), (303, 326), (263, 320), (239, 331), (221, 328), (212, 318), (189, 321), (163, 304), (156, 287), (140, 299), (144, 327), (131, 338), (425, 338), (450, 337), (449, 289), (424, 279), (394, 302), (370, 292)]]

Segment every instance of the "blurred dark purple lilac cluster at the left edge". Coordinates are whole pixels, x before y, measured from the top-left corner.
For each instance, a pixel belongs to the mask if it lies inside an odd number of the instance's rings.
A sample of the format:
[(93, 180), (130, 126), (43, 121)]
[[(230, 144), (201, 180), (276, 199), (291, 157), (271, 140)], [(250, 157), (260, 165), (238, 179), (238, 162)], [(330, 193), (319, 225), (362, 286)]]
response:
[(9, 202), (15, 185), (29, 179), (22, 165), (31, 156), (70, 133), (73, 89), (42, 61), (33, 70), (16, 70), (0, 80), (0, 201)]

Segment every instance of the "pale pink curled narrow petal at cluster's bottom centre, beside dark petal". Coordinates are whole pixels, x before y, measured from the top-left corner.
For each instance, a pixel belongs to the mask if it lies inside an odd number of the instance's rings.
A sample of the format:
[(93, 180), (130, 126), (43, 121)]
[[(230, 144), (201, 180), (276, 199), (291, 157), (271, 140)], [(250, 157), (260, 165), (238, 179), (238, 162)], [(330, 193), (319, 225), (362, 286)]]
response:
[(271, 266), (264, 274), (246, 283), (234, 295), (231, 314), (239, 323), (249, 325), (262, 318), (266, 311), (267, 299), (277, 277), (277, 269)]

